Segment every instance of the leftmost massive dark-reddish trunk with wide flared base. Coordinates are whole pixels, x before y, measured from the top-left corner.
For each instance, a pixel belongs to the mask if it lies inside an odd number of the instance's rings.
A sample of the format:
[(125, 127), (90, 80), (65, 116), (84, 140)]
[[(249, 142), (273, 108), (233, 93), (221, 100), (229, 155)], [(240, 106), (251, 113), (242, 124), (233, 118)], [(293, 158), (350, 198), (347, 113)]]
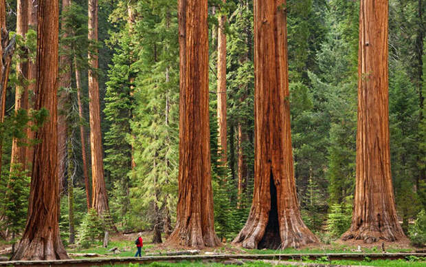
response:
[(27, 225), (12, 259), (67, 259), (58, 226), (57, 91), (58, 0), (38, 2), (36, 109), (49, 117), (37, 130)]

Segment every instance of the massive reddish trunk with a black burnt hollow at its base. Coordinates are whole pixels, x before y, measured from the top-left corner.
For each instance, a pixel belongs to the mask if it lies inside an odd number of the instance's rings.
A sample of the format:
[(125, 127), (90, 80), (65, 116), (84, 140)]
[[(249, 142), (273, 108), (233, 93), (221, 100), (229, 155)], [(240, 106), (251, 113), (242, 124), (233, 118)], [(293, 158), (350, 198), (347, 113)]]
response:
[(254, 198), (234, 239), (245, 248), (298, 248), (318, 241), (302, 221), (295, 190), (284, 6), (284, 0), (254, 2)]

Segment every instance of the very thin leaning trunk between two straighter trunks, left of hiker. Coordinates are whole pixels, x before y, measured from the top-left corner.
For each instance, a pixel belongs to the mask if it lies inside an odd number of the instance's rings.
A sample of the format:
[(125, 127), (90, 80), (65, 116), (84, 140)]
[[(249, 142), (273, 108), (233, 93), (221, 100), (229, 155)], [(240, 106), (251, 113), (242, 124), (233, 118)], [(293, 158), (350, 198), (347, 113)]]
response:
[(90, 186), (89, 186), (89, 174), (88, 174), (88, 171), (87, 171), (85, 127), (82, 124), (84, 118), (83, 118), (83, 105), (82, 105), (82, 102), (81, 102), (80, 71), (78, 70), (77, 58), (75, 56), (75, 53), (74, 53), (74, 71), (76, 72), (78, 117), (80, 118), (80, 142), (81, 142), (81, 155), (82, 155), (82, 160), (83, 160), (83, 175), (85, 176), (87, 211), (89, 211), (89, 209), (90, 209)]

